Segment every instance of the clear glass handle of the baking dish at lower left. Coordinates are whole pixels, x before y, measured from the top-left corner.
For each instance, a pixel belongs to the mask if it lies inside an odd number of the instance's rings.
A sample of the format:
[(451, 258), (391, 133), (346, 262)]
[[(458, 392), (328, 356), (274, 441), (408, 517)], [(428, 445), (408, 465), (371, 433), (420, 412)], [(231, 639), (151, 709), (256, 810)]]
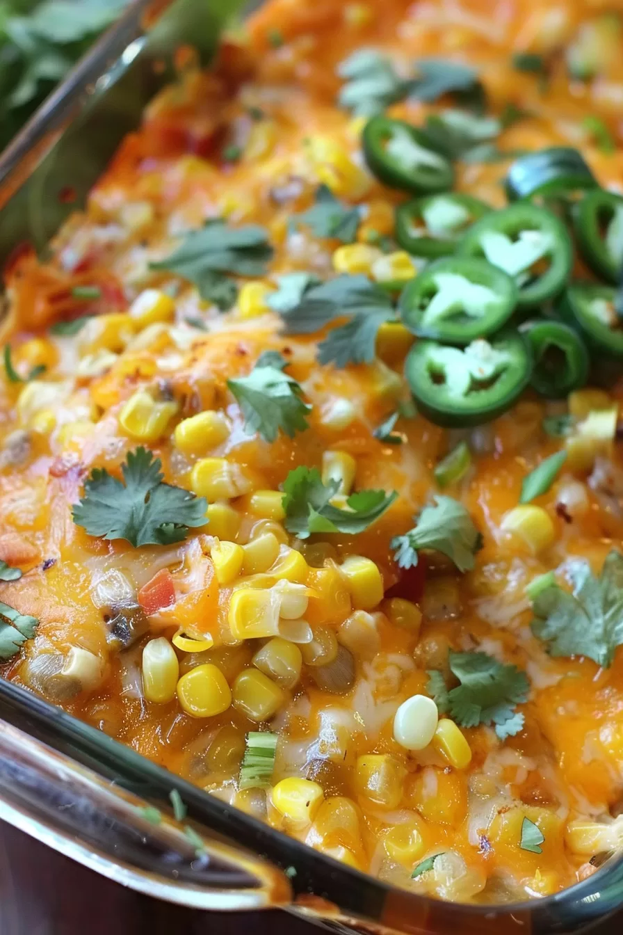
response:
[(1, 720), (0, 818), (152, 897), (210, 910), (290, 902), (288, 878), (258, 856), (205, 837)]

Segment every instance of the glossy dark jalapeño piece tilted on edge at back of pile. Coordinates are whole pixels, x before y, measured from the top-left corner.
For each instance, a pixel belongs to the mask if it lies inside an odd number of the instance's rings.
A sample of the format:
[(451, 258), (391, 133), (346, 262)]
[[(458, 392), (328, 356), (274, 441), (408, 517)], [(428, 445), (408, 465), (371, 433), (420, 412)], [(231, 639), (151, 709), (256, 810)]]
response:
[(509, 201), (551, 198), (595, 188), (597, 180), (577, 150), (555, 146), (520, 156), (504, 181)]

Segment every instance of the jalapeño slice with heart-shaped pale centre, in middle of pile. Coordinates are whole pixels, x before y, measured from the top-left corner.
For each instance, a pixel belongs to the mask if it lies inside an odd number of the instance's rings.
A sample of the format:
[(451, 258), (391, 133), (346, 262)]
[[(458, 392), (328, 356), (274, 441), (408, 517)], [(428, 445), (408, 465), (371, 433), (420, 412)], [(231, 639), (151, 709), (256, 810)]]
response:
[[(545, 208), (522, 202), (492, 211), (473, 224), (457, 252), (485, 257), (517, 282), (518, 309), (532, 309), (558, 295), (573, 264), (564, 224)], [(536, 264), (546, 264), (535, 271)]]

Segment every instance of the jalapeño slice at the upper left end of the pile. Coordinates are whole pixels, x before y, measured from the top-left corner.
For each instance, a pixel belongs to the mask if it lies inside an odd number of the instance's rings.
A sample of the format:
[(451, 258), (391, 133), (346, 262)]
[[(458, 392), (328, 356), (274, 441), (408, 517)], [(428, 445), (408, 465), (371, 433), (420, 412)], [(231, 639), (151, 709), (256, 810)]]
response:
[(373, 117), (364, 126), (361, 140), (367, 164), (390, 188), (427, 194), (452, 187), (452, 165), (418, 127)]

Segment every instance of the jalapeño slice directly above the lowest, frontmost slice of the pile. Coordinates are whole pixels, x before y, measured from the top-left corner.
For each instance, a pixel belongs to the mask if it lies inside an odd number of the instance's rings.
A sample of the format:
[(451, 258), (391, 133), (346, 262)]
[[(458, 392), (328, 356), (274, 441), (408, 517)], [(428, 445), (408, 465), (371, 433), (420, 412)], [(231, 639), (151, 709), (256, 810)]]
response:
[(502, 269), (472, 256), (448, 256), (407, 283), (398, 307), (418, 338), (464, 346), (499, 331), (516, 305), (517, 286)]

